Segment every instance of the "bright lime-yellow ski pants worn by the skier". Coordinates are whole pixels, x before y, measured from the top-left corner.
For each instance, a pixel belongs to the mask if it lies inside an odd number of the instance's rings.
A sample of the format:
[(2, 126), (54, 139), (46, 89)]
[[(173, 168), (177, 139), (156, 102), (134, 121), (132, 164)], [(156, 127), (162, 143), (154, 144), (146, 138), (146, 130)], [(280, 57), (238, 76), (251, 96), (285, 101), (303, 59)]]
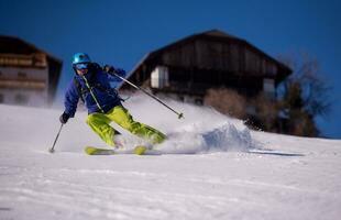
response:
[(120, 134), (120, 132), (110, 127), (111, 122), (116, 122), (132, 134), (146, 139), (153, 144), (161, 143), (166, 139), (166, 135), (156, 129), (134, 121), (129, 111), (122, 106), (117, 106), (107, 113), (91, 113), (87, 118), (87, 124), (92, 131), (108, 145), (114, 146), (113, 136)]

